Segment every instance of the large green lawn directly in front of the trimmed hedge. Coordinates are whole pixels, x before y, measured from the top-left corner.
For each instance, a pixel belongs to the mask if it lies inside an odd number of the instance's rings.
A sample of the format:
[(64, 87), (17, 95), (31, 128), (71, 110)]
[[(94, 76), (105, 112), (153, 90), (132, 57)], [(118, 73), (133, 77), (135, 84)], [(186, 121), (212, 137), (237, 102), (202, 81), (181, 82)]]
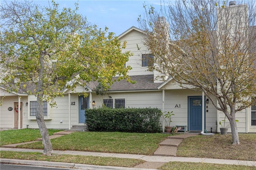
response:
[[(159, 143), (170, 134), (74, 132), (51, 140), (54, 150), (77, 150), (124, 154), (153, 155)], [(18, 148), (43, 149), (42, 142), (19, 145)]]

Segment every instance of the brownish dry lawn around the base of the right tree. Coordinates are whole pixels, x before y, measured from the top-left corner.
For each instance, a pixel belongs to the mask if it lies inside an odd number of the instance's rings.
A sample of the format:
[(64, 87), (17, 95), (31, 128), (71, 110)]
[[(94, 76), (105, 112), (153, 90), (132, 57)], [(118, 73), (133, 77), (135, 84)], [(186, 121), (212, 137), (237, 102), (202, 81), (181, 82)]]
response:
[(180, 143), (177, 156), (256, 161), (256, 134), (239, 134), (240, 145), (232, 145), (232, 135), (198, 135)]

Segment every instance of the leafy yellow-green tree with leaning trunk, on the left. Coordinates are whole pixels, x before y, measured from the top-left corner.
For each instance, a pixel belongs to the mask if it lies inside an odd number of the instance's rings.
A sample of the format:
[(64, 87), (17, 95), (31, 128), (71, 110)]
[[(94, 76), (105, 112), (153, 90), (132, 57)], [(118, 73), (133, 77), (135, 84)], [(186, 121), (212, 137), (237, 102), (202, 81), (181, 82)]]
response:
[[(121, 53), (122, 45), (108, 28), (98, 29), (76, 9), (60, 9), (52, 1), (41, 7), (30, 1), (1, 4), (1, 84), (9, 91), (23, 88), (37, 96), (36, 120), (42, 134), (44, 154), (51, 155), (52, 145), (43, 116), (43, 100), (54, 104), (56, 96), (70, 87), (70, 82), (85, 85), (98, 80), (112, 84), (112, 76), (128, 78), (124, 67), (130, 52)], [(12, 82), (16, 81), (15, 84)], [(29, 82), (29, 83), (28, 83)], [(35, 90), (29, 89), (35, 84)]]

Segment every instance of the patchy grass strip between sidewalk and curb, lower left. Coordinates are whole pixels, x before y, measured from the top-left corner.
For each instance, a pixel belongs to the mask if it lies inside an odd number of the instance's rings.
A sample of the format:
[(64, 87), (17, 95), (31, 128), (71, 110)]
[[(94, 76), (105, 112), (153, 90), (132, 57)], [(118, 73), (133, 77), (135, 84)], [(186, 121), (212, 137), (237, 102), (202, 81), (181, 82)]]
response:
[(99, 157), (99, 156), (81, 156), (68, 154), (52, 154), (52, 156), (45, 156), (40, 152), (13, 152), (0, 151), (1, 158), (8, 159), (22, 159), (22, 160), (42, 160), (49, 162), (67, 162), (77, 164), (90, 164), (100, 166), (122, 166), (133, 167), (145, 162), (144, 160), (131, 158), (115, 158), (115, 157)]

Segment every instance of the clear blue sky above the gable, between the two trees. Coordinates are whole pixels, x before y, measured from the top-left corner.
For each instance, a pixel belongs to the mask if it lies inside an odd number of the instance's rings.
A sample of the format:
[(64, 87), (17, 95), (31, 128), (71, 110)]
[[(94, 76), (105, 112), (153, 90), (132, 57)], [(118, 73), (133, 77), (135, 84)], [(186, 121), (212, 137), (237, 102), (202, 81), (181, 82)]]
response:
[[(1, 0), (2, 1), (2, 0)], [(48, 0), (34, 0), (41, 6), (49, 6)], [(87, 21), (103, 28), (108, 27), (109, 32), (120, 35), (132, 26), (138, 26), (138, 16), (144, 16), (143, 5), (160, 8), (160, 0), (55, 0), (60, 7), (74, 9), (78, 2), (79, 13), (86, 16)], [(50, 0), (51, 4), (51, 0)]]

